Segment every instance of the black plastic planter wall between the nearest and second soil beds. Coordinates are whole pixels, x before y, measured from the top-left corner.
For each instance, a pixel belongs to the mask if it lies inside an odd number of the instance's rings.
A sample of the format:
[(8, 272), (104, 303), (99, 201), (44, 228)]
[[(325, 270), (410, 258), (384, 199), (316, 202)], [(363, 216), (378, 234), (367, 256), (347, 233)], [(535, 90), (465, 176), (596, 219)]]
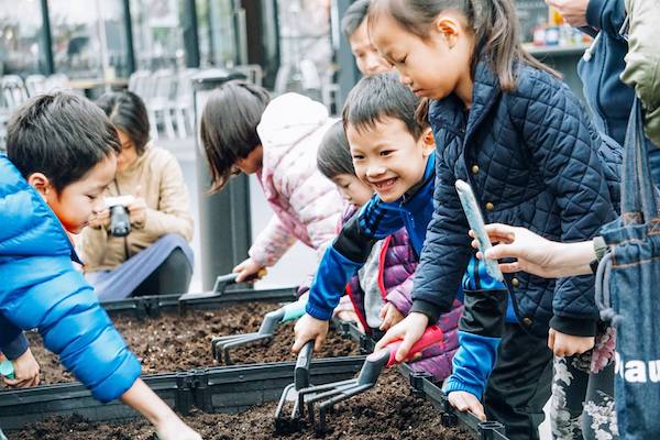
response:
[[(324, 384), (351, 378), (363, 362), (364, 356), (314, 360), (311, 380), (315, 384)], [(188, 414), (193, 407), (205, 413), (238, 413), (277, 400), (284, 387), (293, 382), (295, 365), (295, 362), (278, 362), (220, 366), (144, 376), (143, 380), (180, 414)], [(94, 421), (138, 417), (119, 402), (106, 405), (97, 402), (79, 383), (0, 393), (0, 426), (7, 431), (50, 416), (72, 414)]]

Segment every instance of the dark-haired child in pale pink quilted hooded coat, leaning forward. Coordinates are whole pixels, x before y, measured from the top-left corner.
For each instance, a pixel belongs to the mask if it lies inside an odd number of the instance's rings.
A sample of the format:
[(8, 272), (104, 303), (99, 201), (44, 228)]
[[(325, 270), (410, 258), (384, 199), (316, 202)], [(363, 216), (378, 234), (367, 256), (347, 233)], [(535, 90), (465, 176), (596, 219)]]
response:
[(334, 122), (326, 107), (297, 94), (273, 101), (244, 81), (220, 86), (201, 116), (200, 136), (213, 191), (232, 175), (256, 174), (275, 216), (234, 267), (241, 282), (272, 266), (296, 242), (322, 252), (334, 238), (343, 207), (334, 185), (316, 166), (319, 143)]

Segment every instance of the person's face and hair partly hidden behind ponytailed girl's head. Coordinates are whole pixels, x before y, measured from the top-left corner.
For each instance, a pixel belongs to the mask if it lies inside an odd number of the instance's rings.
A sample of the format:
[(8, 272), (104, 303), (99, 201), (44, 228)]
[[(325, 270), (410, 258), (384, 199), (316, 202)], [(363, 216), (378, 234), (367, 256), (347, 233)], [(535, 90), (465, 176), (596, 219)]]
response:
[(376, 75), (391, 69), (391, 66), (369, 40), (366, 12), (369, 11), (370, 1), (358, 0), (346, 8), (341, 18), (341, 31), (351, 45), (358, 69), (364, 76)]

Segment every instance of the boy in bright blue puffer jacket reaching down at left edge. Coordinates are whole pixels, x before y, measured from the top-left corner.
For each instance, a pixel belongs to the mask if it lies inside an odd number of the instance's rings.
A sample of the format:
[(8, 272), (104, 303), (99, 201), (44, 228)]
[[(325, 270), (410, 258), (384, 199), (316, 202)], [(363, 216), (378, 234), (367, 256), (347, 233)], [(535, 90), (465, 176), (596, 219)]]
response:
[(67, 233), (101, 209), (119, 152), (101, 109), (75, 95), (35, 97), (12, 117), (0, 155), (0, 350), (16, 339), (26, 350), (22, 330), (36, 328), (96, 398), (121, 398), (161, 439), (200, 439), (140, 380), (140, 362), (72, 264)]

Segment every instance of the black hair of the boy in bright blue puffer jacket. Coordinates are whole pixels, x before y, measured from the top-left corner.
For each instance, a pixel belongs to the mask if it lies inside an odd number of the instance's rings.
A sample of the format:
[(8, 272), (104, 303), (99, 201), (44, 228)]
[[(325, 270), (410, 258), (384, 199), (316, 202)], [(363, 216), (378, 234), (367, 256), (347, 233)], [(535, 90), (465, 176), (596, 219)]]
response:
[(9, 160), (25, 178), (43, 173), (57, 194), (120, 151), (117, 130), (103, 111), (70, 92), (28, 100), (7, 128)]

